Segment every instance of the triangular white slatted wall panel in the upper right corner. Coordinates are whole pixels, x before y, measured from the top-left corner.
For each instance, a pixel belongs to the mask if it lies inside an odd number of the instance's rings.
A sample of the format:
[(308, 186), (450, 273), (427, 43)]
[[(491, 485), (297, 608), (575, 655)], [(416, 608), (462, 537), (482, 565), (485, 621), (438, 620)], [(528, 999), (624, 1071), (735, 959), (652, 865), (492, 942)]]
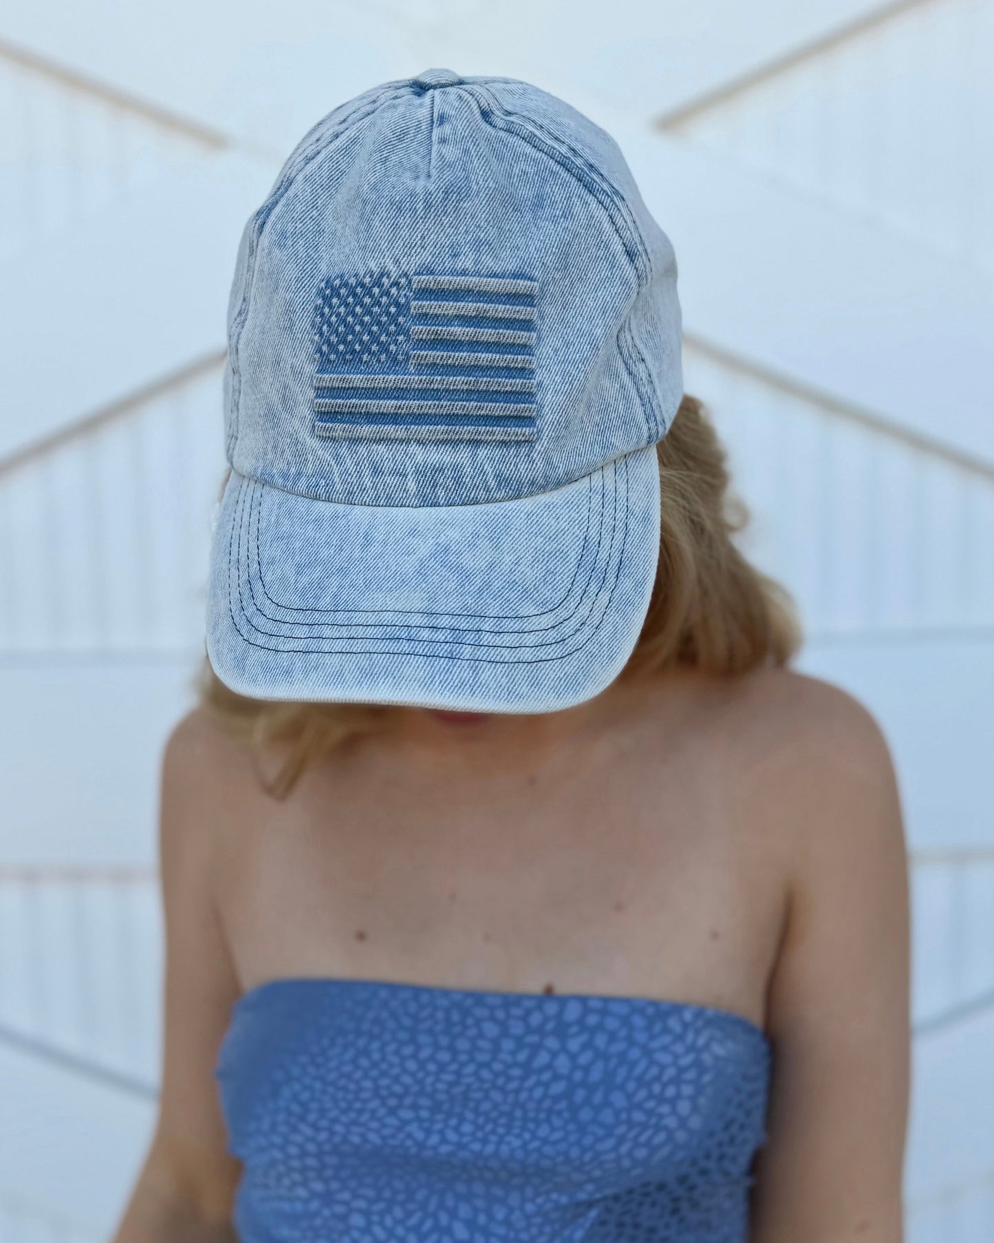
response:
[(994, 0), (932, 0), (670, 126), (994, 270)]

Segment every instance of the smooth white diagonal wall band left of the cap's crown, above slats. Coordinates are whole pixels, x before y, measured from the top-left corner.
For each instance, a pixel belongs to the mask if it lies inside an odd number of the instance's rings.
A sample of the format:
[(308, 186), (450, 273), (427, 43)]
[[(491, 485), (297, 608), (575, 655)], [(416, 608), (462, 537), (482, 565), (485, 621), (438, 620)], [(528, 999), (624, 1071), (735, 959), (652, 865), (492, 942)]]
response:
[(222, 355), (237, 239), (271, 179), (237, 153), (195, 160), (5, 265), (0, 464)]

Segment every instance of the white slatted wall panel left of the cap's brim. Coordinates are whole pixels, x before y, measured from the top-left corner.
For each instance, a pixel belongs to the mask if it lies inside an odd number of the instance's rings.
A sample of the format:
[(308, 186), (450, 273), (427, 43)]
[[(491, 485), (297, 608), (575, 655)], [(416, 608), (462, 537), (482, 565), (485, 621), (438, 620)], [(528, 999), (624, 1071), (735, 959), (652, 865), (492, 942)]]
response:
[(196, 649), (222, 467), (217, 364), (0, 470), (0, 653)]

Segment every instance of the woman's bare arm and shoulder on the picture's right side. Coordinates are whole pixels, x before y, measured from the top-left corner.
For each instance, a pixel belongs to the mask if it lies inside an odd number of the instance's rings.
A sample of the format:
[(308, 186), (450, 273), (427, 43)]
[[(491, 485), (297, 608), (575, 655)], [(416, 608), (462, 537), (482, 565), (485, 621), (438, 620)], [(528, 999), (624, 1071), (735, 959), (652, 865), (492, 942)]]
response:
[(784, 907), (753, 1221), (763, 1238), (897, 1239), (908, 1096), (907, 856), (880, 725), (818, 679), (763, 671), (728, 704), (749, 835)]

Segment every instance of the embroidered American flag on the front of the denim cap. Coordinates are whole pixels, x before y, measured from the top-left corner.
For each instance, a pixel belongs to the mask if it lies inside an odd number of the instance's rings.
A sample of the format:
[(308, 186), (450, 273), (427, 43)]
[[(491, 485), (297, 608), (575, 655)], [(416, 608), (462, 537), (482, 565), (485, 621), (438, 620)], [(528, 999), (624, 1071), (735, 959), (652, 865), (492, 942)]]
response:
[(314, 434), (534, 440), (537, 291), (521, 276), (328, 277), (314, 316)]

